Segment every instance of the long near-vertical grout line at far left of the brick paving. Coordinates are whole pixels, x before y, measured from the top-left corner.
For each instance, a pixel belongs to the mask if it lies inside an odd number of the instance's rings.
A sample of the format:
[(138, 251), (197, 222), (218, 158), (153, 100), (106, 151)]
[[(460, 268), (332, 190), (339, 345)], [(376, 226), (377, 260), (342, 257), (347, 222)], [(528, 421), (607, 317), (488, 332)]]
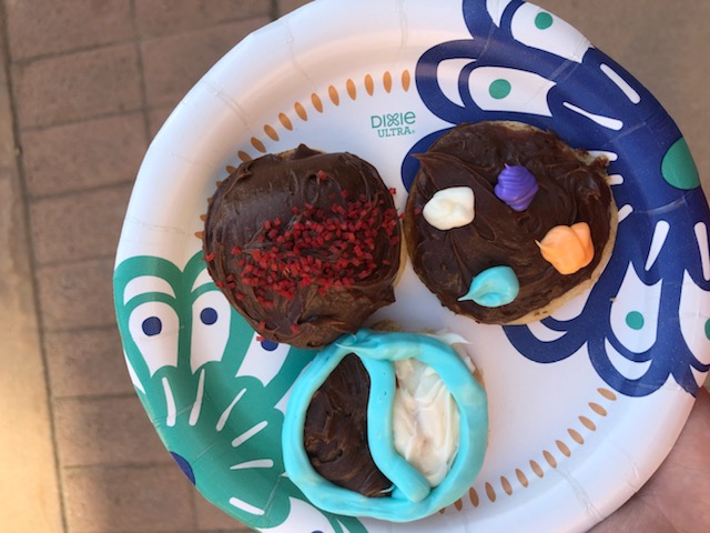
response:
[[(1, 56), (0, 57), (0, 68), (4, 69), (6, 71), (6, 80), (7, 80), (7, 90), (8, 90), (8, 98), (10, 100), (10, 105), (11, 105), (11, 120), (12, 120), (12, 138), (13, 138), (13, 143), (17, 145), (18, 144), (18, 140), (20, 139), (19, 135), (19, 125), (18, 125), (18, 117), (16, 113), (16, 94), (14, 94), (14, 88), (13, 88), (13, 83), (12, 83), (12, 69), (11, 69), (11, 50), (10, 50), (10, 38), (9, 38), (9, 28), (8, 28), (8, 17), (7, 17), (7, 9), (6, 9), (6, 4), (4, 2), (0, 2), (0, 24), (2, 24), (2, 30), (0, 31), (1, 33), (1, 38), (3, 40), (2, 46), (0, 46), (1, 49)], [(17, 171), (19, 174), (19, 189), (20, 189), (20, 195), (21, 195), (21, 202), (22, 202), (22, 208), (21, 208), (21, 212), (22, 212), (22, 219), (23, 219), (23, 223), (24, 227), (27, 229), (27, 240), (28, 240), (28, 244), (29, 244), (29, 250), (28, 250), (28, 259), (29, 259), (29, 266), (31, 270), (31, 284), (32, 284), (32, 303), (34, 305), (34, 313), (36, 313), (36, 320), (37, 320), (37, 328), (38, 328), (38, 336), (39, 336), (39, 351), (40, 351), (40, 355), (42, 359), (42, 373), (43, 373), (43, 380), (44, 380), (44, 388), (45, 388), (45, 402), (47, 402), (47, 412), (48, 412), (48, 418), (49, 418), (49, 431), (50, 431), (50, 439), (51, 439), (51, 443), (52, 443), (52, 455), (53, 455), (53, 469), (54, 469), (54, 473), (55, 473), (55, 479), (57, 479), (57, 497), (59, 500), (59, 507), (60, 507), (60, 520), (61, 520), (61, 527), (62, 527), (62, 532), (67, 532), (68, 531), (68, 521), (67, 521), (67, 505), (65, 505), (65, 501), (64, 501), (64, 480), (63, 480), (63, 475), (62, 475), (62, 469), (60, 465), (60, 457), (59, 457), (59, 450), (58, 450), (58, 436), (57, 436), (57, 422), (55, 422), (55, 418), (54, 418), (54, 405), (52, 404), (52, 390), (51, 390), (51, 381), (50, 381), (50, 376), (49, 376), (49, 356), (47, 353), (47, 349), (44, 345), (44, 323), (42, 320), (42, 312), (41, 312), (41, 302), (40, 302), (40, 296), (39, 296), (39, 280), (37, 278), (37, 258), (34, 255), (34, 248), (33, 248), (33, 240), (32, 240), (32, 233), (30, 231), (31, 228), (31, 221), (30, 221), (30, 209), (29, 209), (29, 192), (28, 192), (28, 187), (27, 187), (27, 180), (26, 180), (26, 172), (24, 172), (24, 162), (22, 160), (21, 155), (18, 155), (16, 159), (16, 167), (17, 167)]]

